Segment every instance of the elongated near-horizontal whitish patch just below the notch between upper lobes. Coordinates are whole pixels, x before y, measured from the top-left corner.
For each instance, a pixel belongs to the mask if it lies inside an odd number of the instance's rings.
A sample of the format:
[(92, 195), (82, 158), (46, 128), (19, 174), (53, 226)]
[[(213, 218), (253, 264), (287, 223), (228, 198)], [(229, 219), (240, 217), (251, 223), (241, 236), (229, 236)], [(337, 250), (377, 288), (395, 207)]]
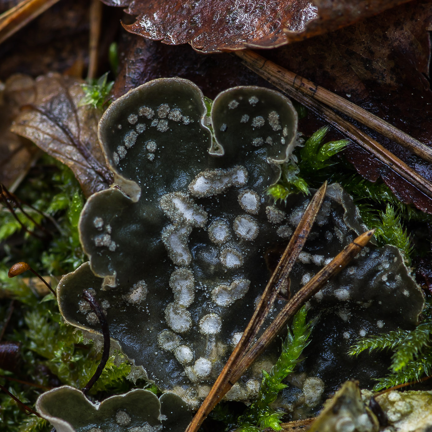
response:
[(247, 181), (248, 172), (240, 165), (229, 169), (206, 169), (191, 181), (188, 190), (194, 197), (210, 197), (221, 194), (232, 186), (244, 186)]

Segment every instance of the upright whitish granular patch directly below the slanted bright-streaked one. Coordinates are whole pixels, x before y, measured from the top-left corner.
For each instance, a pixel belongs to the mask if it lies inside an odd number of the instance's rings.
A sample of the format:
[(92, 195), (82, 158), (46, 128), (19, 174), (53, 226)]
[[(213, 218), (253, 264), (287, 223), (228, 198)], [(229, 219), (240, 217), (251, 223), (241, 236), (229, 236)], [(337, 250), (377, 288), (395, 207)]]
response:
[(162, 241), (168, 256), (179, 267), (191, 264), (192, 256), (187, 247), (191, 232), (191, 226), (176, 228), (174, 225), (168, 225), (162, 229)]

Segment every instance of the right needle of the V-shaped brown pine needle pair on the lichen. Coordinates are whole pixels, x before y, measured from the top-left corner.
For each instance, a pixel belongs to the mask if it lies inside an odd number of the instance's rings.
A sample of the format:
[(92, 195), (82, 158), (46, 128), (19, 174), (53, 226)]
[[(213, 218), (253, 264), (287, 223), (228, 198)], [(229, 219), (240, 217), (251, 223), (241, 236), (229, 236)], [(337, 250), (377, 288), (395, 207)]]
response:
[[(246, 369), (260, 356), (267, 346), (273, 341), (277, 334), (286, 325), (287, 321), (299, 311), (302, 305), (307, 302), (312, 295), (316, 294), (330, 279), (340, 272), (361, 250), (368, 244), (372, 238), (375, 229), (367, 231), (359, 235), (352, 243), (350, 243), (342, 252), (340, 252), (327, 266), (321, 269), (305, 286), (302, 287), (288, 303), (283, 307), (277, 317), (273, 320), (269, 327), (264, 331), (258, 341), (249, 349), (237, 362), (236, 366), (230, 366), (226, 372), (226, 378), (222, 381), (218, 379), (213, 388), (204, 400), (200, 409), (195, 414), (191, 423), (186, 429), (186, 432), (197, 432), (205, 417), (219, 403), (222, 397), (232, 388), (236, 381), (245, 373)], [(277, 271), (277, 270), (275, 270)], [(224, 373), (226, 368), (221, 372)], [(218, 381), (221, 384), (218, 384)]]

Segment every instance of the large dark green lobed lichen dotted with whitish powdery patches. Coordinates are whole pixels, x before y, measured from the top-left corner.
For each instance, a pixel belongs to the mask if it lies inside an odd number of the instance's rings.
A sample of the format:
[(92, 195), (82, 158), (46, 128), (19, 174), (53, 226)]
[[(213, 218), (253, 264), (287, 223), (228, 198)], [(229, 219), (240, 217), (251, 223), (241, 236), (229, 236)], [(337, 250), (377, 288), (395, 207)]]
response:
[[(114, 102), (99, 139), (118, 187), (94, 194), (81, 215), (91, 264), (60, 281), (66, 320), (98, 331), (81, 300), (83, 289), (93, 289), (123, 352), (162, 391), (196, 406), (309, 200), (296, 197), (278, 208), (266, 195), (291, 155), (296, 125), (288, 99), (257, 87), (222, 92), (210, 114), (200, 90), (176, 78), (144, 84)], [(364, 230), (350, 197), (329, 187), (292, 271), (291, 293)], [(331, 334), (321, 326), (328, 347), (310, 359), (309, 372), (326, 381), (357, 336), (414, 324), (423, 298), (398, 250), (384, 247), (365, 249), (311, 305), (340, 321)], [(277, 344), (228, 398), (254, 397), (261, 368), (276, 357)], [(352, 373), (353, 364), (337, 372), (337, 384)]]

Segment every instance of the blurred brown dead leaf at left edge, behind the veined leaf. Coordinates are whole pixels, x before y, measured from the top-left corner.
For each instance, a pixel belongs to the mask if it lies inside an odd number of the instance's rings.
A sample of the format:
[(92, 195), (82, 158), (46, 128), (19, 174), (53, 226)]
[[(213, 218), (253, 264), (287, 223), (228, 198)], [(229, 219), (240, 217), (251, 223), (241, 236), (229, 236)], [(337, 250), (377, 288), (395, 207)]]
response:
[(14, 75), (0, 92), (0, 182), (14, 191), (28, 172), (38, 148), (10, 131), (10, 125), (33, 90), (33, 80)]

